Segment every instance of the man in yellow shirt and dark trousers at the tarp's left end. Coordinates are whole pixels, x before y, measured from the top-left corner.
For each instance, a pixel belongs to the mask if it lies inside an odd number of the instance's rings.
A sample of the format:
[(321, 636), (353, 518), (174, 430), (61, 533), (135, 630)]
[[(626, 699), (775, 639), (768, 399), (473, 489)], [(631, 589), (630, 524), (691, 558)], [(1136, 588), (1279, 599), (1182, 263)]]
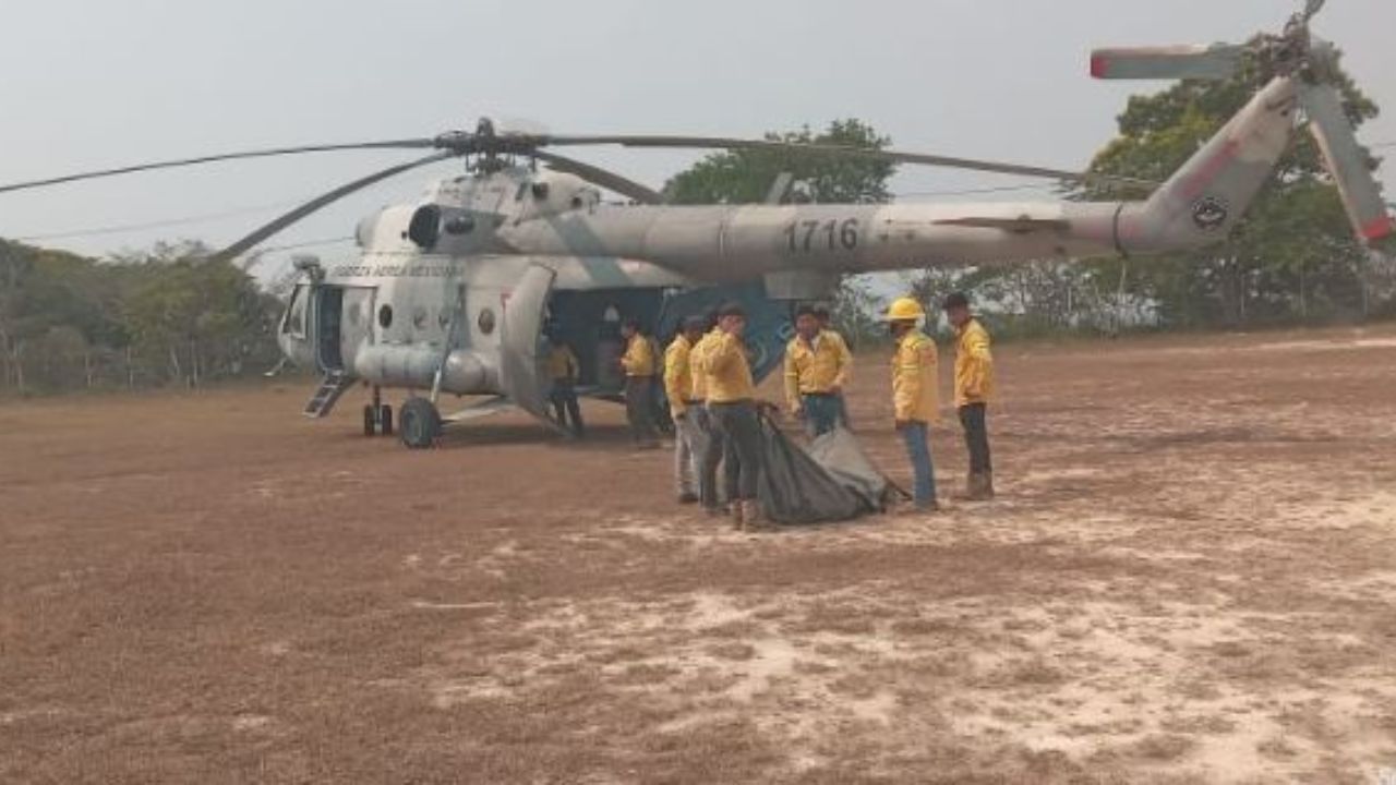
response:
[[(736, 528), (758, 528), (761, 507), (757, 483), (761, 474), (761, 420), (757, 419), (757, 391), (741, 334), (747, 313), (737, 303), (718, 310), (718, 335), (705, 346), (702, 367), (708, 386), (708, 413), (713, 429), (729, 444), (708, 448), (704, 465), (716, 467), (726, 458), (729, 511)], [(726, 455), (723, 455), (726, 453)]]

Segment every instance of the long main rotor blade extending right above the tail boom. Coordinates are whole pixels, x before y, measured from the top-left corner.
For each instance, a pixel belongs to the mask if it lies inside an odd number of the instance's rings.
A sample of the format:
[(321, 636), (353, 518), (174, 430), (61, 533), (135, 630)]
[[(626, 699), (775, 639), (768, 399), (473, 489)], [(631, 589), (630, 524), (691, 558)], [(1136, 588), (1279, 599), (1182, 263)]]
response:
[(1153, 187), (1159, 183), (1152, 180), (1138, 180), (1132, 177), (1115, 177), (1096, 175), (1092, 172), (1068, 172), (1065, 169), (1048, 169), (1044, 166), (1023, 166), (1018, 163), (1004, 163), (998, 161), (981, 161), (973, 158), (952, 158), (948, 155), (930, 155), (923, 152), (907, 152), (900, 149), (874, 149), (863, 147), (847, 147), (839, 144), (807, 144), (778, 140), (744, 140), (725, 137), (680, 137), (680, 135), (554, 135), (532, 140), (536, 145), (604, 145), (614, 144), (634, 148), (688, 148), (688, 149), (761, 149), (769, 152), (794, 152), (811, 155), (831, 155), (842, 158), (861, 158), (867, 161), (885, 161), (888, 163), (914, 163), (921, 166), (944, 166), (948, 169), (970, 169), (974, 172), (993, 172), (997, 175), (1018, 175), (1026, 177), (1047, 177), (1053, 180), (1113, 183), (1127, 186)]

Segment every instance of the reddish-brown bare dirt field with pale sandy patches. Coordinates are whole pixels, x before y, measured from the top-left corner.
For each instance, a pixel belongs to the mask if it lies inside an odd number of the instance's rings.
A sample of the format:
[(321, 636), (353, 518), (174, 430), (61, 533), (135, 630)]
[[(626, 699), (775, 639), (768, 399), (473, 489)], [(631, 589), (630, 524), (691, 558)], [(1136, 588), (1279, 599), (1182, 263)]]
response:
[[(3, 782), (1376, 782), (1396, 331), (1000, 352), (1001, 497), (740, 535), (621, 415), (0, 408)], [(884, 360), (853, 418), (895, 476)], [(940, 429), (942, 489), (958, 433)]]

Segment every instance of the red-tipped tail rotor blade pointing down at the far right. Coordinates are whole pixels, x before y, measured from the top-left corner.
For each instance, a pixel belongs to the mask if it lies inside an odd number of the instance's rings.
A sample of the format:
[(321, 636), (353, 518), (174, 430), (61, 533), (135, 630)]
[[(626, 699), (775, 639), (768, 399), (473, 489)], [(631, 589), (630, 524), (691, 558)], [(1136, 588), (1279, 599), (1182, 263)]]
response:
[(1396, 233), (1396, 219), (1386, 210), (1381, 186), (1368, 168), (1367, 152), (1357, 144), (1337, 89), (1328, 84), (1305, 84), (1300, 101), (1353, 229), (1368, 243)]

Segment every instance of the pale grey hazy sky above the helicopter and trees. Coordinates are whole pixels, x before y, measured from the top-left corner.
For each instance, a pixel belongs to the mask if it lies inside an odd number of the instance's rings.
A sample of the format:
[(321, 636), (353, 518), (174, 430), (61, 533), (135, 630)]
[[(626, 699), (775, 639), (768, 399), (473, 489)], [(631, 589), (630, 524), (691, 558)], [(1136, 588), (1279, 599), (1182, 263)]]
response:
[[(1075, 169), (1110, 138), (1127, 95), (1166, 87), (1087, 78), (1093, 46), (1240, 41), (1277, 31), (1298, 4), (0, 0), (0, 183), (242, 148), (433, 135), (473, 127), (480, 115), (554, 133), (725, 135), (853, 116), (899, 148)], [(1396, 1), (1330, 0), (1315, 27), (1346, 49), (1349, 70), (1388, 110), (1362, 140), (1396, 141)], [(1396, 158), (1396, 148), (1386, 154)], [(35, 240), (87, 253), (176, 237), (219, 244), (405, 158), (325, 154), (0, 194), (0, 236), (222, 215)], [(695, 155), (582, 158), (658, 187)], [(269, 244), (348, 236), (360, 215), (416, 197), (426, 179), (455, 166), (389, 180)], [(1396, 183), (1396, 165), (1383, 179)], [(1019, 183), (903, 169), (895, 190)], [(350, 246), (318, 250), (334, 257)]]

